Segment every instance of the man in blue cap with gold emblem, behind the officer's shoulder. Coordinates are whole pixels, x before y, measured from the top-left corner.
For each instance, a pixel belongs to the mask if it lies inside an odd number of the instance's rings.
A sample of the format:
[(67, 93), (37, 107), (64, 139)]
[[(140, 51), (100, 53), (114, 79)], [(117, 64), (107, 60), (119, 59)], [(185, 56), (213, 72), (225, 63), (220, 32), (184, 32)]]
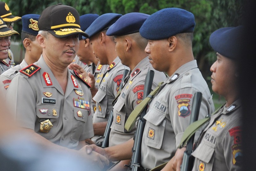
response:
[(38, 34), (38, 14), (27, 14), (22, 16), (22, 32), (21, 39), (23, 41), (23, 49), (25, 51), (25, 57), (20, 65), (16, 65), (13, 68), (5, 71), (0, 76), (0, 89), (3, 93), (6, 93), (6, 89), (9, 87), (10, 82), (14, 75), (16, 75), (21, 69), (36, 62), (41, 54), (42, 47), (36, 40)]

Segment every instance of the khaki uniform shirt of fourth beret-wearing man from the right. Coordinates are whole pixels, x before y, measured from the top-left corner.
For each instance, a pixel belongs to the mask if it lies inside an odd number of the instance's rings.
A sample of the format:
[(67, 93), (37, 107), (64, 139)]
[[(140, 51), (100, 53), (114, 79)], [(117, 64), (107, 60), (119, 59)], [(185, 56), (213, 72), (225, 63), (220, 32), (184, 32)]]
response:
[[(93, 123), (108, 121), (110, 112), (113, 110), (112, 101), (117, 96), (125, 69), (128, 69), (128, 67), (122, 65), (121, 60), (117, 57), (108, 67), (107, 72), (103, 74), (98, 92), (93, 97), (93, 100), (96, 102)], [(101, 136), (94, 142), (100, 144), (102, 141), (103, 137)]]

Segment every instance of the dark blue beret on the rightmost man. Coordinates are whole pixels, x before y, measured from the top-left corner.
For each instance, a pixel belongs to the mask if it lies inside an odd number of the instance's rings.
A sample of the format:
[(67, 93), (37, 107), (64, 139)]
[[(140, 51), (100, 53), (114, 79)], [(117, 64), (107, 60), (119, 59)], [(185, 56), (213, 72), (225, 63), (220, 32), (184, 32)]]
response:
[(240, 57), (243, 31), (243, 26), (218, 29), (211, 34), (210, 45), (217, 53), (230, 59), (237, 59)]

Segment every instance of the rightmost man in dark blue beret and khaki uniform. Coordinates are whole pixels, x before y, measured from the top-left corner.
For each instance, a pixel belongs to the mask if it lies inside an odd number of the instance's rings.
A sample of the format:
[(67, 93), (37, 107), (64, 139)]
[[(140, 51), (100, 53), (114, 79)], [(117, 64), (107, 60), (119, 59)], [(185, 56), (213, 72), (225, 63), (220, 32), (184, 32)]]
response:
[[(225, 27), (214, 31), (210, 45), (217, 60), (210, 70), (214, 92), (224, 96), (226, 103), (212, 114), (194, 148), (192, 170), (242, 170), (242, 108), (237, 91), (238, 68), (243, 26)], [(184, 148), (177, 150), (173, 169), (180, 169)], [(166, 169), (169, 170), (169, 169)]]

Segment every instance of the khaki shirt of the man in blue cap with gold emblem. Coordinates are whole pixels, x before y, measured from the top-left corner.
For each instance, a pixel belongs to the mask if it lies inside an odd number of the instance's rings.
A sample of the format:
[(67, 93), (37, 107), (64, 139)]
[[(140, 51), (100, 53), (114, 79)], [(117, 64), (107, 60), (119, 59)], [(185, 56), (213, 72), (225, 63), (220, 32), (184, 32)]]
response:
[(9, 87), (11, 83), (12, 78), (26, 66), (28, 65), (23, 59), (23, 61), (19, 65), (10, 68), (9, 70), (5, 71), (3, 74), (0, 75), (0, 89), (4, 96), (6, 94), (6, 89)]

